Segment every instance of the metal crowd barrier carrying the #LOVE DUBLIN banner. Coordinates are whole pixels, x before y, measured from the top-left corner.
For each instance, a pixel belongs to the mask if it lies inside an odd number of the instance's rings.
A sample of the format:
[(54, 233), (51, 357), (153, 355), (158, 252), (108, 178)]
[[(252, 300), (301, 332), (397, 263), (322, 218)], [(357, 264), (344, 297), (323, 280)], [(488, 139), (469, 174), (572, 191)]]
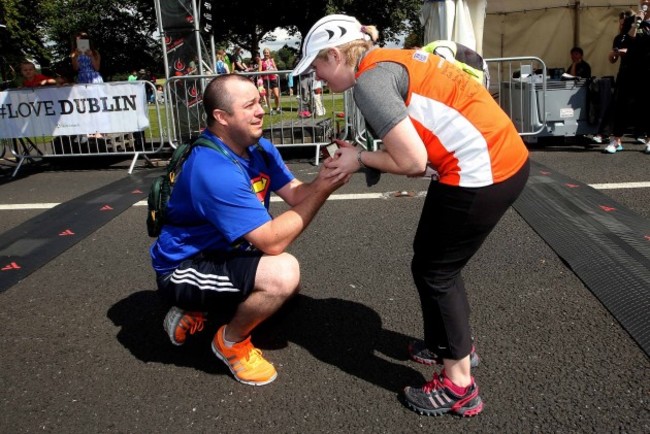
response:
[[(156, 95), (155, 86), (147, 81), (139, 82), (109, 82), (102, 84), (74, 84), (71, 86), (115, 86), (119, 84), (141, 84), (146, 89), (149, 88), (153, 95)], [(63, 87), (63, 86), (62, 86)], [(45, 88), (34, 88), (36, 92), (36, 102), (38, 102), (38, 92)], [(25, 91), (25, 89), (20, 89)], [(13, 92), (8, 90), (7, 92)], [(110, 103), (110, 101), (109, 101)], [(159, 152), (165, 142), (166, 132), (163, 128), (163, 111), (161, 101), (153, 98), (153, 102), (144, 102), (147, 104), (147, 116), (149, 127), (143, 131), (124, 131), (117, 133), (103, 133), (101, 130), (97, 134), (72, 134), (72, 135), (48, 135), (36, 134), (34, 131), (42, 131), (39, 125), (31, 123), (27, 131), (20, 134), (20, 137), (1, 139), (0, 158), (6, 158), (5, 154), (9, 151), (15, 158), (17, 165), (12, 173), (15, 177), (23, 163), (26, 161), (35, 161), (45, 158), (77, 158), (77, 157), (130, 157), (133, 160), (128, 169), (131, 173), (135, 163), (140, 156), (145, 159), (148, 155)], [(88, 103), (90, 104), (90, 103)], [(6, 108), (3, 108), (5, 110)], [(85, 107), (84, 109), (87, 109)], [(0, 118), (0, 125), (6, 119), (6, 113), (3, 111)], [(60, 121), (64, 122), (64, 121)]]

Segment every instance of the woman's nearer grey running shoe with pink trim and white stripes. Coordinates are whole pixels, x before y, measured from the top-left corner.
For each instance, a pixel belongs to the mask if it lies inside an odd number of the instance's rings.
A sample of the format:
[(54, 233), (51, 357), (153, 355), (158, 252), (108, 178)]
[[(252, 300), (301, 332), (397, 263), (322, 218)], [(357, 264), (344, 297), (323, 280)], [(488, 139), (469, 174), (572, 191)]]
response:
[(406, 387), (404, 400), (411, 410), (426, 416), (455, 413), (470, 417), (483, 411), (483, 401), (478, 396), (478, 386), (474, 378), (464, 393), (457, 393), (454, 389), (458, 389), (458, 386), (445, 376), (443, 370), (440, 375), (433, 374), (433, 380), (422, 387)]

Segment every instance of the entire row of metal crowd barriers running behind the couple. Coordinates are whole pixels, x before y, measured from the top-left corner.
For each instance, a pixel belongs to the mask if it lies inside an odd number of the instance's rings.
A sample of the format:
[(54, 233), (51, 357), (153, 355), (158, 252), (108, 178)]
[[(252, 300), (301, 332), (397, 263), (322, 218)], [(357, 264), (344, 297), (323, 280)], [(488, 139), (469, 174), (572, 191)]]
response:
[[(490, 68), (490, 92), (510, 116), (520, 135), (535, 135), (546, 124), (546, 65), (537, 57), (486, 59)], [(274, 71), (282, 81), (290, 70)], [(269, 89), (269, 72), (241, 73), (256, 85)], [(3, 139), (0, 147), (16, 158), (15, 176), (25, 161), (39, 158), (133, 156), (129, 173), (140, 156), (156, 154), (165, 145), (176, 147), (199, 136), (207, 126), (202, 104), (203, 89), (214, 75), (190, 75), (167, 80), (164, 96), (156, 97), (147, 105), (149, 127), (144, 131), (98, 135), (33, 135)], [(261, 80), (261, 83), (259, 83)], [(300, 78), (295, 80), (299, 82)], [(97, 85), (111, 86), (125, 82)], [(133, 82), (129, 82), (133, 83)], [(149, 87), (148, 94), (156, 95), (150, 82), (137, 82)], [(281, 111), (275, 108), (273, 95), (267, 95), (269, 105), (264, 119), (264, 137), (276, 147), (314, 147), (315, 164), (319, 164), (320, 147), (338, 137), (354, 141), (369, 150), (376, 150), (381, 140), (373, 138), (366, 129), (361, 112), (355, 106), (352, 91), (317, 94), (313, 86), (295, 86), (293, 95), (281, 92)], [(282, 86), (280, 89), (286, 89)], [(35, 90), (38, 92), (38, 89)], [(319, 101), (320, 99), (320, 101)], [(164, 111), (163, 111), (164, 108)], [(308, 112), (308, 113), (306, 113)], [(153, 119), (152, 119), (153, 118)], [(2, 119), (0, 119), (2, 120)], [(152, 121), (155, 121), (152, 122)], [(153, 127), (152, 127), (153, 126)]]

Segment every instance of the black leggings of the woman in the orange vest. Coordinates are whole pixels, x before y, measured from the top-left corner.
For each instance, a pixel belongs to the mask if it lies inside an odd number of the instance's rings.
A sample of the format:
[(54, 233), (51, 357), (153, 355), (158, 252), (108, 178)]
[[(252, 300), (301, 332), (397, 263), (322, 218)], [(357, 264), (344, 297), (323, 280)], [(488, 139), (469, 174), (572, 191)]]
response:
[(470, 353), (469, 302), (461, 270), (517, 199), (529, 163), (511, 178), (481, 188), (432, 182), (413, 241), (411, 271), (420, 294), (424, 340), (446, 359)]

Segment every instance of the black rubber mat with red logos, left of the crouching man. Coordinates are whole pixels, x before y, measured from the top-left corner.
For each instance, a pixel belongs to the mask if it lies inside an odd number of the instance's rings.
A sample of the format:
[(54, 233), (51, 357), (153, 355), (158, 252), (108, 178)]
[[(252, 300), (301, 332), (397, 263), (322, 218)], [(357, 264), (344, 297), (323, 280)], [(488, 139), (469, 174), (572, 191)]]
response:
[(160, 173), (130, 175), (0, 234), (0, 293), (145, 198)]

